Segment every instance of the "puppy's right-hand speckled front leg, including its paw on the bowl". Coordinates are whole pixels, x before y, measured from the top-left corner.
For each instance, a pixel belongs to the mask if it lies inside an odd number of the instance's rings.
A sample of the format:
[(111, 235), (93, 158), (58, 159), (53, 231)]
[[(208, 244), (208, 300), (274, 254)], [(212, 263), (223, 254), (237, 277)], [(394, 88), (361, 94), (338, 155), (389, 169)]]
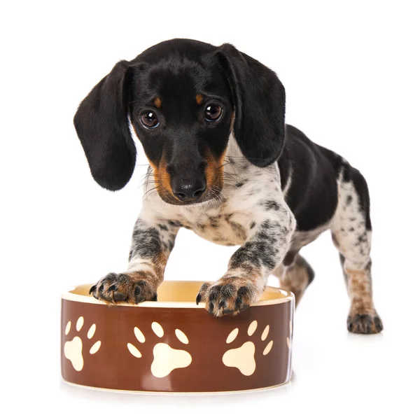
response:
[(237, 314), (258, 300), (269, 274), (288, 251), (295, 218), (286, 204), (260, 218), (251, 222), (246, 242), (230, 258), (228, 272), (216, 283), (204, 283), (197, 295), (197, 304), (206, 302), (214, 316)]

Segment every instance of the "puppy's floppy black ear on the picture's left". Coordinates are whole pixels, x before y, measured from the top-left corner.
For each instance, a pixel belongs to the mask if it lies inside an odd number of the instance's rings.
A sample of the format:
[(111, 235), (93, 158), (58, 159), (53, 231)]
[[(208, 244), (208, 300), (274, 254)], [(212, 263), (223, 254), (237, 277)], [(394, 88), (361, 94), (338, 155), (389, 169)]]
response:
[(129, 62), (118, 62), (83, 99), (74, 116), (94, 180), (113, 191), (130, 180), (136, 163), (127, 115), (130, 73)]

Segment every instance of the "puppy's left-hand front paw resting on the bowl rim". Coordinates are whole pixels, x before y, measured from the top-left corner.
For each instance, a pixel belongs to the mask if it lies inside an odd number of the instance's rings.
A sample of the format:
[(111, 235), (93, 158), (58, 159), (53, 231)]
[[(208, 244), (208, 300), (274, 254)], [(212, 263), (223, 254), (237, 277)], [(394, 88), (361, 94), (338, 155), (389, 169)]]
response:
[(109, 304), (118, 302), (137, 304), (144, 300), (158, 300), (155, 282), (139, 272), (109, 273), (92, 286), (89, 293)]

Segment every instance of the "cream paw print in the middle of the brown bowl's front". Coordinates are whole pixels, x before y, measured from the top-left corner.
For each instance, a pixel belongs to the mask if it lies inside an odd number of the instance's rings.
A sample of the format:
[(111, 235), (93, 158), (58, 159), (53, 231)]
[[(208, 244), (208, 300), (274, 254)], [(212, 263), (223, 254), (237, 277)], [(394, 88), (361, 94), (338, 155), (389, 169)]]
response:
[[(152, 330), (159, 338), (162, 338), (165, 335), (160, 323), (153, 322)], [(146, 342), (146, 337), (139, 328), (134, 327), (134, 335), (136, 336), (137, 341), (141, 344)], [(176, 329), (175, 335), (181, 343), (188, 344), (188, 337), (181, 330)], [(134, 357), (141, 358), (141, 352), (136, 346), (134, 346), (134, 344), (127, 343), (127, 348)], [(193, 358), (188, 351), (172, 349), (172, 347), (168, 344), (160, 342), (155, 344), (153, 347), (153, 363), (151, 365), (151, 371), (153, 376), (163, 378), (167, 377), (174, 369), (188, 367), (192, 361)]]

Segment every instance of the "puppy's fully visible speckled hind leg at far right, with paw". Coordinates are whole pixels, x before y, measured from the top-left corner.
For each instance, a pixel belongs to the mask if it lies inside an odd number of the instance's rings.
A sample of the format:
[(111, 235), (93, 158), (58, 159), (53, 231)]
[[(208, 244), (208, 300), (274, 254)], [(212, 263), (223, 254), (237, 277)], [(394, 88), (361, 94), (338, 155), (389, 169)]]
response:
[(358, 334), (374, 334), (383, 327), (372, 299), (369, 192), (363, 176), (349, 165), (344, 167), (339, 180), (338, 197), (331, 230), (351, 302), (347, 329)]

